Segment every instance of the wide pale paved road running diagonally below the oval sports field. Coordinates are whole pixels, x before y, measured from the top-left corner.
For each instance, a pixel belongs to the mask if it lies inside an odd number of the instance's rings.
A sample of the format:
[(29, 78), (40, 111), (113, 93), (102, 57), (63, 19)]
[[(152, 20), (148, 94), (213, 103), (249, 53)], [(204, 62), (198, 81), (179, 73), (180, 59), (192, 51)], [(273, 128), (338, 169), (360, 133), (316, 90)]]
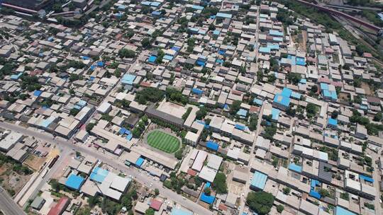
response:
[(94, 156), (103, 163), (108, 163), (109, 165), (113, 166), (113, 168), (122, 170), (123, 173), (126, 173), (127, 175), (132, 175), (138, 182), (143, 183), (148, 187), (152, 187), (153, 189), (157, 188), (158, 190), (160, 190), (160, 194), (162, 196), (167, 197), (168, 199), (172, 199), (174, 202), (181, 204), (182, 207), (194, 211), (194, 213), (196, 214), (213, 214), (209, 209), (201, 207), (201, 205), (196, 204), (196, 202), (192, 202), (189, 199), (184, 199), (181, 195), (177, 194), (176, 192), (172, 192), (172, 190), (168, 190), (165, 187), (162, 187), (162, 182), (153, 180), (152, 176), (146, 175), (146, 173), (140, 172), (140, 170), (136, 168), (131, 168), (124, 165), (122, 161), (118, 161), (118, 158), (116, 158), (116, 156), (109, 156), (105, 153), (101, 153), (100, 151), (95, 151), (94, 149), (88, 148), (87, 146), (70, 144), (70, 141), (66, 141), (63, 139), (52, 139), (52, 135), (49, 133), (36, 132), (34, 130), (20, 127), (16, 124), (0, 122), (0, 127), (10, 129), (15, 132), (20, 132), (21, 134), (24, 134), (26, 136), (35, 136), (35, 138), (37, 139), (47, 141), (52, 144), (57, 144), (57, 146), (60, 147), (62, 151), (70, 151), (74, 149), (76, 151), (79, 151), (80, 153), (88, 154), (89, 156)]

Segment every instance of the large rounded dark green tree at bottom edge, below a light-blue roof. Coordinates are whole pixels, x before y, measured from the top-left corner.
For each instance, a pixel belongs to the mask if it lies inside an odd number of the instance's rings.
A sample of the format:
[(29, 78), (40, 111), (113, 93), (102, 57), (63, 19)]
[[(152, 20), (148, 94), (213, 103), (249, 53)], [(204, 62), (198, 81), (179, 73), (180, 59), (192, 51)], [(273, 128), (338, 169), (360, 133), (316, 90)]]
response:
[(260, 215), (269, 214), (273, 203), (274, 196), (270, 192), (249, 192), (246, 197), (248, 207)]

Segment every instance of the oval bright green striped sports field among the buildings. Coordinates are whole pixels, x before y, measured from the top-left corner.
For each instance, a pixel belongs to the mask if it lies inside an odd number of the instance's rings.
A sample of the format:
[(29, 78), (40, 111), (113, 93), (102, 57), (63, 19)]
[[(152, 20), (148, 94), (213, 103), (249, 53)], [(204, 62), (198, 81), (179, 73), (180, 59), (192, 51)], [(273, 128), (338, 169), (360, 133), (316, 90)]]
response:
[(160, 131), (153, 131), (148, 134), (148, 144), (166, 153), (174, 153), (179, 149), (177, 137)]

